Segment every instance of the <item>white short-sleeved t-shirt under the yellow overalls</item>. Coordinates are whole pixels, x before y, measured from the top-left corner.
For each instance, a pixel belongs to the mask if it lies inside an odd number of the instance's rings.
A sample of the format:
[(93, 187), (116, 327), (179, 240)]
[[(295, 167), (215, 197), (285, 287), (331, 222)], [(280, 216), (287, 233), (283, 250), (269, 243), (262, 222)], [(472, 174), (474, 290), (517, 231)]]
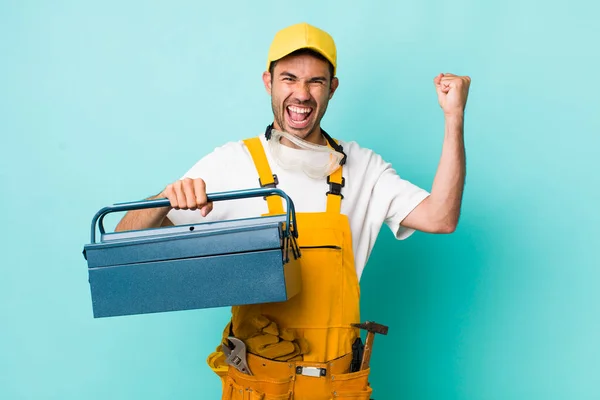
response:
[[(292, 199), (296, 212), (325, 211), (329, 190), (326, 179), (312, 179), (302, 171), (280, 168), (269, 153), (264, 135), (260, 138), (271, 170), (278, 177), (277, 188)], [(341, 212), (350, 220), (352, 250), (360, 279), (381, 226), (388, 225), (397, 239), (409, 237), (414, 231), (400, 226), (400, 222), (429, 193), (400, 178), (391, 164), (373, 151), (356, 142), (339, 143), (348, 156), (343, 167), (345, 186), (342, 188)], [(283, 154), (306, 151), (282, 147)], [(202, 178), (209, 194), (259, 187), (258, 172), (242, 141), (216, 148), (198, 161), (184, 178)], [(200, 211), (190, 210), (171, 210), (168, 218), (175, 225), (181, 225), (257, 217), (267, 212), (267, 202), (260, 197), (215, 202), (212, 212), (205, 218)]]

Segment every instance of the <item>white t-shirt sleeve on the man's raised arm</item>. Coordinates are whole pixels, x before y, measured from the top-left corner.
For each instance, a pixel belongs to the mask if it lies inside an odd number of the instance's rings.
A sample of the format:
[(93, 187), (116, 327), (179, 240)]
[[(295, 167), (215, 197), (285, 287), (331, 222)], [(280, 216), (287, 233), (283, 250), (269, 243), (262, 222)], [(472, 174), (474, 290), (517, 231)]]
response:
[(396, 239), (403, 240), (412, 235), (415, 230), (400, 225), (424, 199), (429, 192), (419, 186), (402, 179), (392, 165), (377, 156), (377, 169), (381, 171), (373, 188), (373, 200), (387, 207), (384, 223), (392, 230)]

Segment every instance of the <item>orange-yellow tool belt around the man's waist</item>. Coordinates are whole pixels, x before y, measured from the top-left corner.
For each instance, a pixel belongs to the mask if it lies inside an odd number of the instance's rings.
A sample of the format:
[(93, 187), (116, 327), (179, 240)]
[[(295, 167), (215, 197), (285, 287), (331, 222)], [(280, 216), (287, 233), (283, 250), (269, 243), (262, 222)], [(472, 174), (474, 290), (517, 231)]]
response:
[(280, 362), (246, 357), (253, 375), (229, 368), (222, 400), (368, 400), (370, 369), (350, 372), (352, 354), (327, 363)]

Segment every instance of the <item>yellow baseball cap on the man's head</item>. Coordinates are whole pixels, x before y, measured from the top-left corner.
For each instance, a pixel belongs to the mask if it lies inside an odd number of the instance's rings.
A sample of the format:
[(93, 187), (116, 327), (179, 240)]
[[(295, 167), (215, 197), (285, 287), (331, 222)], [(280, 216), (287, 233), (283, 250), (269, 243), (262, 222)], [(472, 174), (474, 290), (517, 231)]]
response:
[(327, 32), (306, 22), (288, 26), (277, 32), (269, 49), (267, 71), (273, 61), (277, 61), (300, 49), (311, 49), (325, 57), (333, 65), (333, 75), (337, 69), (335, 42)]

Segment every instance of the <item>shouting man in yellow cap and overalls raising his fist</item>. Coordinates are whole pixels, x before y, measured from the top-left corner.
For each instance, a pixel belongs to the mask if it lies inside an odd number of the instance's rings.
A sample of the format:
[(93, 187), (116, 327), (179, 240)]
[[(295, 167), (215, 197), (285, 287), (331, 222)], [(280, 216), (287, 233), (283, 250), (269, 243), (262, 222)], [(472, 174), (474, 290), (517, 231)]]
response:
[(275, 196), (213, 205), (207, 191), (271, 185), (294, 201), (302, 291), (283, 303), (232, 308), (223, 343), (228, 336), (245, 342), (252, 375), (229, 368), (217, 348), (208, 363), (222, 378), (223, 399), (368, 399), (369, 370), (350, 370), (359, 337), (351, 324), (360, 322), (358, 281), (382, 224), (404, 239), (414, 230), (451, 233), (458, 223), (470, 78), (434, 78), (445, 134), (428, 193), (374, 152), (336, 141), (321, 128), (339, 85), (336, 66), (335, 43), (326, 32), (304, 23), (278, 32), (263, 74), (274, 117), (265, 135), (217, 148), (155, 197), (168, 198), (170, 208), (129, 212), (117, 226), (145, 229), (283, 212)]

